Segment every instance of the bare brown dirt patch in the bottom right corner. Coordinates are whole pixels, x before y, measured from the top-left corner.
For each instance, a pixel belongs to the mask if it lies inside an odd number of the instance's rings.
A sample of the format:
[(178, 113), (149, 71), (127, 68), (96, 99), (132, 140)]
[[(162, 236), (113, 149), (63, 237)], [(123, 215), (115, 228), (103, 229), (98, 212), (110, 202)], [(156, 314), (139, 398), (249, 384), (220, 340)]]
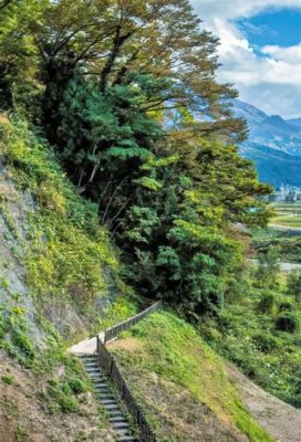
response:
[(233, 366), (229, 365), (228, 371), (245, 406), (277, 441), (301, 442), (301, 410), (269, 394)]

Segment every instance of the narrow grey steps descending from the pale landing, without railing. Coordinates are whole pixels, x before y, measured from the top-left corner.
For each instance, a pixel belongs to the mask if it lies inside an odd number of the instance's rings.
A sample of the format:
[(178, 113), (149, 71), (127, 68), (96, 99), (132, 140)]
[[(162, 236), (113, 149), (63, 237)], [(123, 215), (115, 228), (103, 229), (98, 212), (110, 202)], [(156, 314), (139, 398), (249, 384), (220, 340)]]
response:
[(106, 375), (97, 364), (97, 356), (94, 354), (82, 354), (79, 356), (86, 373), (94, 383), (97, 399), (105, 409), (108, 420), (116, 432), (116, 440), (118, 442), (138, 442), (138, 439), (134, 435), (129, 427), (128, 420), (121, 410), (117, 394), (113, 391)]

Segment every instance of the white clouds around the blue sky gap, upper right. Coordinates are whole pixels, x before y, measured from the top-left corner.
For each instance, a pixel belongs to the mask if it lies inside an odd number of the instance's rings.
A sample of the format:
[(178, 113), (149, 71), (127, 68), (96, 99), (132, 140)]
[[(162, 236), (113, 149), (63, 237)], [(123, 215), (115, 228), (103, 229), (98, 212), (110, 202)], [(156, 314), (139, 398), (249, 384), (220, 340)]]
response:
[(299, 7), (300, 0), (194, 0), (204, 25), (220, 38), (220, 82), (235, 83), (245, 99), (267, 113), (301, 115), (301, 45), (255, 49), (233, 24), (268, 8)]

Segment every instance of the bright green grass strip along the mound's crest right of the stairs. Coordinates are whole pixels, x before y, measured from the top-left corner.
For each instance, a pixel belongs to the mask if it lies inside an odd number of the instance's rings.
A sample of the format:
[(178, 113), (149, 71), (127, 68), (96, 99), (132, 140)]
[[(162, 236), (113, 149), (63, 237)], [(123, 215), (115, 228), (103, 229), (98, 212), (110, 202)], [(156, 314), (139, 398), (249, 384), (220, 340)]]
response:
[[(116, 350), (125, 373), (135, 371), (135, 367), (155, 372), (188, 389), (196, 400), (205, 403), (224, 422), (240, 429), (250, 441), (272, 441), (242, 406), (221, 358), (204, 343), (193, 326), (160, 312), (135, 326), (132, 336), (142, 344), (143, 351)], [(150, 419), (159, 420), (159, 417), (150, 412)]]

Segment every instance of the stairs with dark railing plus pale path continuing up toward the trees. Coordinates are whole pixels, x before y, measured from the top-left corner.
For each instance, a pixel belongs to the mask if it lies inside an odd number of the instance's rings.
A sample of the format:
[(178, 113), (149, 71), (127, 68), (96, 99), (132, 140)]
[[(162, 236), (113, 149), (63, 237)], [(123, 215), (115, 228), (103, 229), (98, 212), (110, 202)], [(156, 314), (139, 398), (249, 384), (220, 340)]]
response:
[[(68, 349), (68, 352), (76, 355), (81, 359), (94, 385), (96, 397), (115, 430), (118, 442), (138, 442), (141, 440), (156, 442), (157, 438), (105, 345), (115, 340), (120, 332), (129, 329), (159, 307), (160, 302), (158, 301), (137, 315)], [(126, 409), (133, 418), (133, 425), (129, 424), (126, 417), (128, 413), (123, 411)], [(135, 435), (137, 432), (139, 432), (139, 436)]]

